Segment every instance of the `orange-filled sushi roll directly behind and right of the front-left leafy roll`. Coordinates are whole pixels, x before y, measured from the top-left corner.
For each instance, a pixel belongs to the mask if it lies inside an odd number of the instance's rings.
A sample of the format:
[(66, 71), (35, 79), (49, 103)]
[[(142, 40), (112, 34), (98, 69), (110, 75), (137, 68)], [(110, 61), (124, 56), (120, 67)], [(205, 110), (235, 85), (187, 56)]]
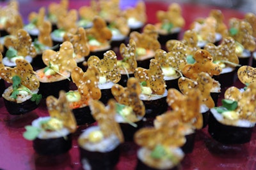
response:
[(66, 93), (69, 106), (72, 108), (77, 125), (90, 125), (95, 119), (92, 117), (88, 101), (99, 100), (101, 97), (98, 87), (99, 71), (95, 66), (90, 66), (84, 73), (80, 67), (74, 67), (71, 78), (77, 90)]

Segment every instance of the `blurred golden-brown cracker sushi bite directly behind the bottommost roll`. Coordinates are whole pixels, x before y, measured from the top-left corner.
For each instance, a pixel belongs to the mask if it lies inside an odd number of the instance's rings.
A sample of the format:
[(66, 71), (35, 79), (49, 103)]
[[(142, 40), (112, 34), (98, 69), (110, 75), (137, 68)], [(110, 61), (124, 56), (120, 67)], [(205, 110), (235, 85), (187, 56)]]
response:
[[(189, 129), (184, 129), (186, 143), (182, 146), (184, 153), (193, 152), (196, 130), (204, 127), (204, 116), (201, 114), (202, 94), (200, 89), (191, 89), (186, 94), (182, 94), (177, 89), (169, 89), (166, 98), (168, 106), (174, 113), (164, 113), (157, 116), (156, 122), (170, 120), (168, 117), (177, 117), (182, 124), (186, 124)], [(175, 115), (169, 115), (175, 114)], [(167, 118), (166, 118), (167, 117)]]

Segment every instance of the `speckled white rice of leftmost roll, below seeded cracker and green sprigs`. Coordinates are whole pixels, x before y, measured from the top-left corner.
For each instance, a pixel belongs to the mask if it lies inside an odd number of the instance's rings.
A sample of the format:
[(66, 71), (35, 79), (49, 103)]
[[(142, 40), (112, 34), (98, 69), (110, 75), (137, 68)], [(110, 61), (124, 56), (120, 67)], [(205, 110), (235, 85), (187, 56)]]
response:
[[(31, 90), (32, 94), (37, 94), (39, 89)], [(4, 99), (8, 101), (13, 101), (16, 103), (23, 103), (24, 101), (27, 101), (28, 99), (31, 99), (32, 94), (29, 94), (28, 92), (24, 92), (22, 94), (19, 94), (16, 99), (10, 97), (12, 95), (13, 88), (12, 86), (9, 86), (7, 89), (4, 90), (3, 97)]]

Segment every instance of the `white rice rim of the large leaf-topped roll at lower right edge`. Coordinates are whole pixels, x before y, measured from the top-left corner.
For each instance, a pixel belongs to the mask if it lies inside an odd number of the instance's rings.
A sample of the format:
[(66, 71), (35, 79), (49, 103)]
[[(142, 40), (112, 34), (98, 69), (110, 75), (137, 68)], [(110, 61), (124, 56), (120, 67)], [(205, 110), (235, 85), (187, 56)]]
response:
[(254, 127), (255, 123), (250, 122), (248, 120), (227, 120), (227, 118), (224, 118), (223, 115), (218, 113), (217, 110), (214, 108), (211, 109), (212, 115), (218, 120), (218, 122), (221, 122), (221, 124), (225, 125), (233, 125), (237, 127)]

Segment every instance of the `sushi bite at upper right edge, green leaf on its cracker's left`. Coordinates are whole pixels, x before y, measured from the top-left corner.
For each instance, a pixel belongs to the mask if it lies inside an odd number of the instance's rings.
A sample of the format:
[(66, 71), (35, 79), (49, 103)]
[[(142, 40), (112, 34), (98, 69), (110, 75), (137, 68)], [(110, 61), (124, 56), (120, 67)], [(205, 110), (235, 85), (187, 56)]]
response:
[(239, 64), (248, 66), (252, 52), (256, 49), (252, 25), (238, 18), (230, 18), (228, 24), (230, 27), (229, 36), (236, 41), (236, 54), (239, 58)]

